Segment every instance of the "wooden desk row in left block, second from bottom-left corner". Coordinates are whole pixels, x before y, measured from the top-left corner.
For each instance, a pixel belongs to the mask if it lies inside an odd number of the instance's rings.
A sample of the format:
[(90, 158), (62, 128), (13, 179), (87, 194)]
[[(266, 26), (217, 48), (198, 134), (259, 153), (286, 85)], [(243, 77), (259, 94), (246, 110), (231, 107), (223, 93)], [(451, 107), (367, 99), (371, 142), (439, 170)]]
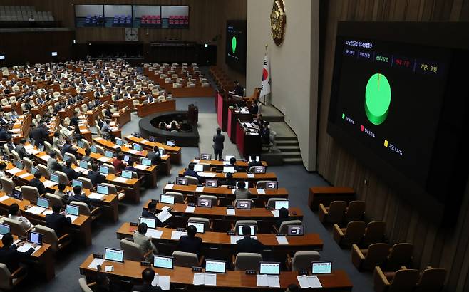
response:
[[(4, 192), (0, 192), (0, 197), (6, 196)], [(28, 213), (25, 211), (24, 207), (31, 205), (31, 202), (28, 200), (18, 200), (9, 197), (8, 199), (0, 202), (0, 212), (3, 214), (6, 214), (8, 210), (10, 209), (11, 204), (18, 204), (19, 209), (21, 211), (21, 215), (28, 218), (29, 221), (31, 221), (32, 224), (42, 224), (44, 225), (44, 222), (46, 220), (46, 215), (44, 214), (32, 214)], [(51, 209), (51, 208), (49, 208)], [(78, 216), (77, 219), (75, 219), (72, 222), (71, 229), (69, 233), (78, 233), (79, 234), (79, 240), (81, 243), (85, 246), (90, 246), (91, 245), (91, 218), (85, 215), (80, 215)]]

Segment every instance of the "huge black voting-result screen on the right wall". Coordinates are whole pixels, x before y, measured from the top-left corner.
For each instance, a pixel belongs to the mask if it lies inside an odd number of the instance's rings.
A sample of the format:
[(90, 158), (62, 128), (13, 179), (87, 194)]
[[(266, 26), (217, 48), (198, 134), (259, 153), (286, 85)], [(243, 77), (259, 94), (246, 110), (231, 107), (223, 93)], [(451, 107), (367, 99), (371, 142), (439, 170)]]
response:
[(327, 132), (433, 217), (457, 216), (441, 207), (465, 186), (465, 46), (438, 24), (344, 22), (336, 37)]

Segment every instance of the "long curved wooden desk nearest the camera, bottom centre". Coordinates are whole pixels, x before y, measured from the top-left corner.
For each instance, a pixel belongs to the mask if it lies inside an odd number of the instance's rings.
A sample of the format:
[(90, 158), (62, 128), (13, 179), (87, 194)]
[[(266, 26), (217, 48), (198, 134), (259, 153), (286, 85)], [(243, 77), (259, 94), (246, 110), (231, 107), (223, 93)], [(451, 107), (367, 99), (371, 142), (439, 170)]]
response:
[[(83, 264), (80, 265), (80, 273), (86, 276), (96, 276), (98, 273), (105, 273), (104, 271), (97, 271), (93, 268), (88, 268), (89, 264), (93, 261), (93, 255), (89, 255)], [(123, 263), (105, 261), (102, 266), (114, 266), (113, 272), (105, 273), (109, 278), (117, 278), (119, 280), (130, 281), (131, 283), (142, 283), (142, 271), (148, 266), (140, 266), (140, 261), (128, 261)], [(193, 288), (193, 276), (191, 268), (177, 266), (174, 269), (167, 268), (153, 268), (155, 273), (161, 276), (170, 276), (170, 283), (172, 287), (182, 286), (182, 288)], [(269, 291), (284, 291), (287, 286), (294, 283), (299, 286), (297, 281), (297, 271), (284, 271), (279, 275), (280, 288), (269, 288)], [(314, 291), (351, 291), (352, 283), (343, 270), (332, 271), (328, 275), (318, 276), (319, 281), (323, 288), (315, 289)], [(198, 288), (202, 288), (200, 286)], [(214, 287), (215, 288), (215, 287)], [(259, 291), (257, 287), (256, 275), (247, 275), (245, 271), (227, 271), (226, 273), (217, 274), (216, 288), (227, 289), (230, 291), (245, 291), (247, 289)]]

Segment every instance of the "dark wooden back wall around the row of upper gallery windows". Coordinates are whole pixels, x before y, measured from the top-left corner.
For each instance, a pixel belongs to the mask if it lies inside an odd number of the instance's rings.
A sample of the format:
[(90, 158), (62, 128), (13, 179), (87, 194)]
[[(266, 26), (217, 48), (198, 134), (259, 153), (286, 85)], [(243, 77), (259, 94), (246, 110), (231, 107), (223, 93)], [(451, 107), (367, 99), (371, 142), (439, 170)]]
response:
[[(179, 38), (217, 45), (217, 64), (225, 68), (225, 26), (227, 19), (246, 19), (247, 0), (2, 0), (1, 5), (35, 6), (38, 11), (52, 11), (63, 26), (75, 28), (73, 4), (123, 4), (123, 5), (188, 5), (190, 6), (189, 29), (140, 28), (139, 40), (143, 43)], [(216, 36), (221, 36), (214, 41)], [(88, 41), (125, 41), (125, 28), (77, 28), (78, 46)], [(244, 85), (246, 74), (231, 71), (233, 79)]]

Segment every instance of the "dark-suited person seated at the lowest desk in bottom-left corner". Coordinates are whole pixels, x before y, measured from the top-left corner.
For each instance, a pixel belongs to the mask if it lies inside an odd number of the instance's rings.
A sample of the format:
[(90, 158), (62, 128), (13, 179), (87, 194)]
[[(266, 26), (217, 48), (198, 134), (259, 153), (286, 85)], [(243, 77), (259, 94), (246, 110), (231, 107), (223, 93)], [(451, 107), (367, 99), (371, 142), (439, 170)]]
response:
[(11, 233), (4, 234), (1, 238), (1, 243), (3, 246), (0, 248), (0, 263), (5, 264), (10, 273), (14, 273), (14, 271), (19, 268), (19, 263), (28, 259), (28, 257), (33, 254), (34, 248), (36, 247), (36, 244), (32, 244), (32, 246), (25, 252), (17, 251), (16, 249), (19, 246), (22, 246), (24, 242), (13, 244), (13, 236)]

